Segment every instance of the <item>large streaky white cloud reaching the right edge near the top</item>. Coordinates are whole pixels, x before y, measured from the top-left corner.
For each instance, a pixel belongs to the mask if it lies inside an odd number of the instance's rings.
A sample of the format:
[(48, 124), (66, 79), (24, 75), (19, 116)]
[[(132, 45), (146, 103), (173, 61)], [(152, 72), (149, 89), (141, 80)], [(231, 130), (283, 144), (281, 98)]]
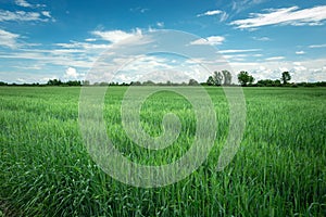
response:
[(251, 13), (249, 18), (237, 20), (231, 25), (237, 28), (256, 28), (267, 25), (322, 25), (326, 20), (326, 5), (299, 10), (298, 7), (268, 9), (267, 13)]

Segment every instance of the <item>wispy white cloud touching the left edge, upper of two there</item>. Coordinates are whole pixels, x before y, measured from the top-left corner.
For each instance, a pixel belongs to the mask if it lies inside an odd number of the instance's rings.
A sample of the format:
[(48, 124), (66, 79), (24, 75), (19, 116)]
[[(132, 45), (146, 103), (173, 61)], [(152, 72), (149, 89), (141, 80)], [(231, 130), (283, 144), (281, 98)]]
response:
[(37, 12), (25, 12), (25, 11), (0, 11), (0, 22), (3, 21), (41, 21), (47, 22), (48, 20), (41, 18), (41, 14)]

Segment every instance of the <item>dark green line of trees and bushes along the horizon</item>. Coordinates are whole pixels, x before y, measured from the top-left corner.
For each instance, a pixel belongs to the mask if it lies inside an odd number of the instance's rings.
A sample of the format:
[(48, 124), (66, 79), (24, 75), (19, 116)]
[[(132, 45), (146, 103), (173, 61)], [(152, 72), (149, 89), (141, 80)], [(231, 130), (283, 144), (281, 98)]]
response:
[[(241, 71), (237, 75), (237, 79), (242, 87), (326, 87), (326, 81), (318, 82), (292, 82), (289, 72), (283, 72), (279, 79), (262, 79), (255, 81), (255, 78), (246, 71)], [(95, 82), (90, 84), (89, 80), (68, 80), (62, 81), (60, 79), (49, 79), (47, 84), (8, 84), (0, 81), (0, 86), (236, 86), (233, 84), (233, 75), (228, 71), (214, 72), (205, 82), (198, 82), (196, 79), (189, 79), (188, 82), (154, 82), (152, 80), (147, 81), (131, 81), (131, 82)]]

